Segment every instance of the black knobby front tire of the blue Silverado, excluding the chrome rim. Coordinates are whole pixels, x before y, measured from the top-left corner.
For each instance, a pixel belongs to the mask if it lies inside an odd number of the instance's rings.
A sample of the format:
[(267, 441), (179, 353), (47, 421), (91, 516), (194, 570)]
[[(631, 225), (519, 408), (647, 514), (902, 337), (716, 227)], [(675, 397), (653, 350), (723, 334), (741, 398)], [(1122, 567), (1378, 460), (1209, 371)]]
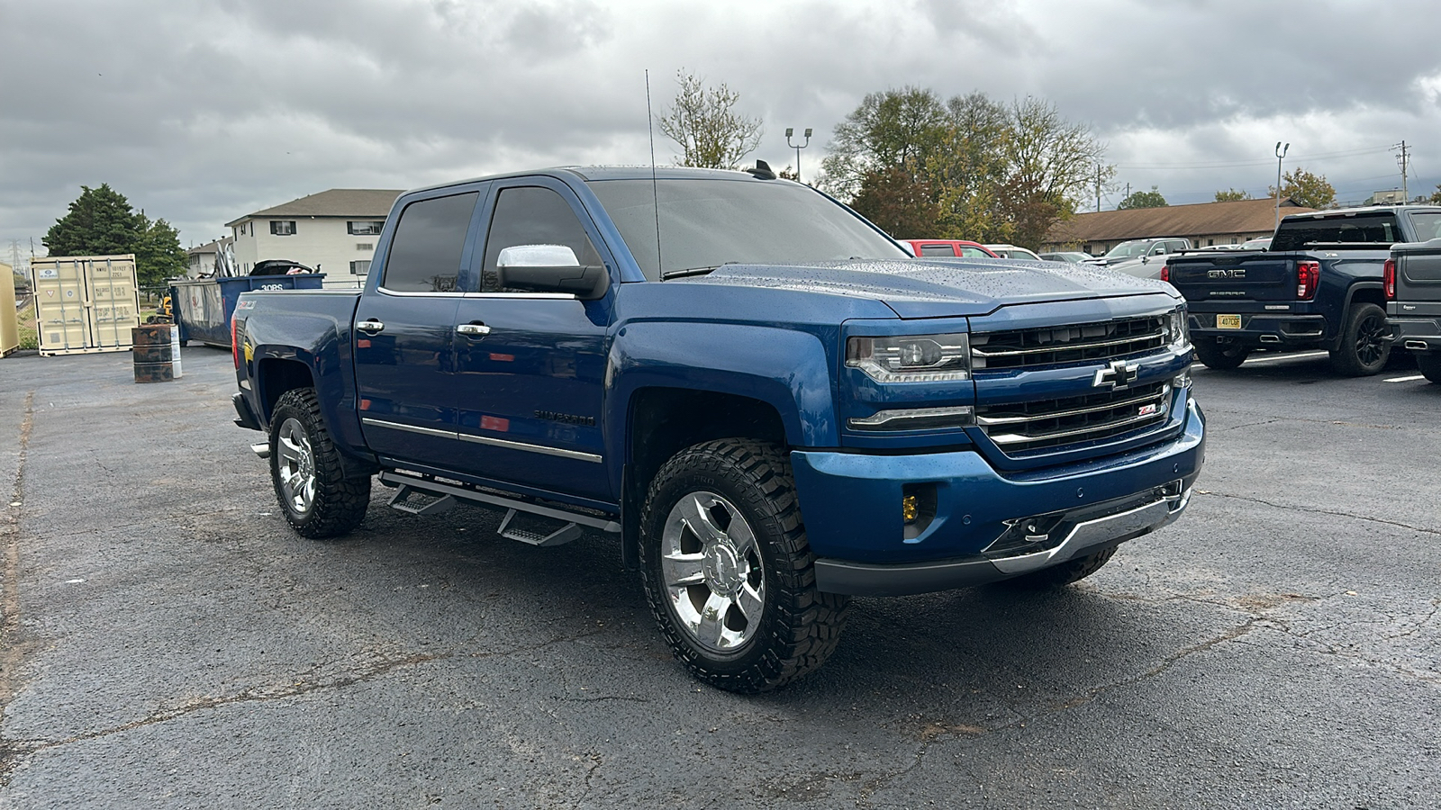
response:
[[(672, 604), (661, 535), (683, 497), (715, 493), (736, 507), (755, 536), (765, 584), (757, 631), (733, 651), (700, 646)], [(728, 438), (686, 448), (661, 466), (641, 509), (641, 577), (661, 636), (695, 677), (729, 692), (769, 692), (814, 672), (834, 651), (849, 597), (816, 589), (791, 466), (768, 442)]]

